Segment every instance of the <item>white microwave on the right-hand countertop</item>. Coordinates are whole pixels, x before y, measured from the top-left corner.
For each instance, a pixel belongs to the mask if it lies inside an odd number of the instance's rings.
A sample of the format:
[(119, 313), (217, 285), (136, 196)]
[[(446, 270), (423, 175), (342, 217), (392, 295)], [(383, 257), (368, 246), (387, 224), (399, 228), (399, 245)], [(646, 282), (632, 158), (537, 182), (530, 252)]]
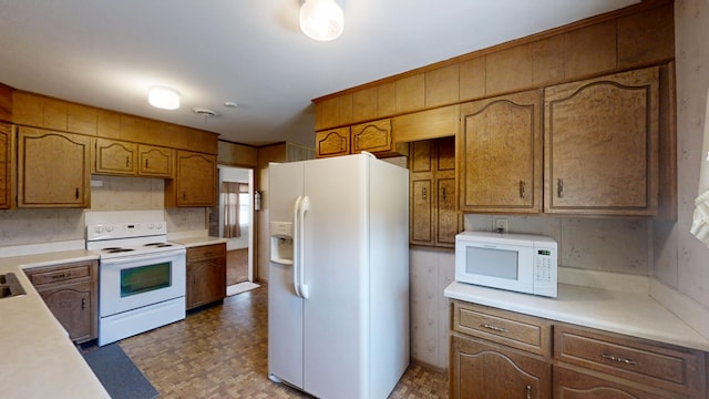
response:
[(462, 232), (455, 236), (455, 280), (556, 297), (556, 242), (532, 234)]

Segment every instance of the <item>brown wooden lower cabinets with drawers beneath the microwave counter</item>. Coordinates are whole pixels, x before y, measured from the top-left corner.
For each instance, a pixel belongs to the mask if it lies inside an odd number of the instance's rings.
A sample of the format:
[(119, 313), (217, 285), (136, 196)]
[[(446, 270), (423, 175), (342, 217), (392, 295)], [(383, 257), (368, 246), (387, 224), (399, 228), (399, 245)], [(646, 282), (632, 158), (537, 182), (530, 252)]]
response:
[(452, 303), (450, 398), (707, 398), (707, 354)]

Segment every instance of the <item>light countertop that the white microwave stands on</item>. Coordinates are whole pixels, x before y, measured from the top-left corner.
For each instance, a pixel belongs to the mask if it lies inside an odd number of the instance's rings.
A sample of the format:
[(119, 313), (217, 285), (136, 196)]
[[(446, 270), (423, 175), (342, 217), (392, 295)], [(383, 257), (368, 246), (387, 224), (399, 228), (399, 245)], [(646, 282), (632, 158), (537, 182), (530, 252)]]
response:
[(709, 351), (709, 340), (648, 295), (559, 284), (547, 298), (453, 282), (451, 299)]

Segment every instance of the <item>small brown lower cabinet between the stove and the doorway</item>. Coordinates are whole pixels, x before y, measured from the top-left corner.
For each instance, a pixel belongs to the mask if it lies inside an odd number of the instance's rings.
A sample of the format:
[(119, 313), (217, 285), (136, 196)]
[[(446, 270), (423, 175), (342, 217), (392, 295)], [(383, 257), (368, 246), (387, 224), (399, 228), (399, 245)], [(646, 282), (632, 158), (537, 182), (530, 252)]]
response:
[(226, 244), (187, 248), (186, 308), (223, 300), (226, 297)]

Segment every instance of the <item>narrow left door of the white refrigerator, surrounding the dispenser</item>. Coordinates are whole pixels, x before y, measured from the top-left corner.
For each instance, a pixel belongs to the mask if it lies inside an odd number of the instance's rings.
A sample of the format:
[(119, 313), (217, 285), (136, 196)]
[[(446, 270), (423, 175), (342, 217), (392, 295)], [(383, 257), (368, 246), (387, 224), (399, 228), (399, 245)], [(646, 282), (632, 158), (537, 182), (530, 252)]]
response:
[[(294, 205), (302, 195), (304, 164), (270, 164), (268, 178), (265, 212), (271, 222), (292, 223)], [(296, 295), (292, 275), (292, 264), (269, 263), (268, 374), (302, 389), (302, 299)]]

